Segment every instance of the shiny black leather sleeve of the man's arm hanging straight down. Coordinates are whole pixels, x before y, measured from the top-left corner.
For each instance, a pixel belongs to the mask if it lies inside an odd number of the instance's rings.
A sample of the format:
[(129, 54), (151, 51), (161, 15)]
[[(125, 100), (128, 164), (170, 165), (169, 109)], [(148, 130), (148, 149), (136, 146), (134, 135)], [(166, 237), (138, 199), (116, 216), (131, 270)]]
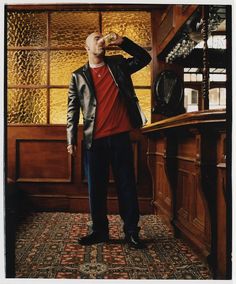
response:
[(80, 115), (80, 103), (78, 92), (76, 91), (75, 75), (72, 75), (68, 92), (67, 110), (67, 144), (77, 144), (77, 128)]

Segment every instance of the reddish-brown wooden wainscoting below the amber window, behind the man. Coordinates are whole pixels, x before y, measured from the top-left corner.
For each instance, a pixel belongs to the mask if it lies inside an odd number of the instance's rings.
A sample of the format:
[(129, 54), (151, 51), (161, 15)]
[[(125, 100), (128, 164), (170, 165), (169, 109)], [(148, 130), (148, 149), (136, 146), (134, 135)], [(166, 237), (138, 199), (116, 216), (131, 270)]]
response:
[[(78, 129), (76, 157), (66, 150), (66, 126), (8, 126), (7, 175), (16, 182), (32, 210), (89, 212), (88, 185), (83, 171), (83, 134)], [(151, 213), (151, 179), (147, 168), (147, 139), (131, 133), (141, 214)], [(109, 212), (118, 213), (115, 183), (110, 174)]]

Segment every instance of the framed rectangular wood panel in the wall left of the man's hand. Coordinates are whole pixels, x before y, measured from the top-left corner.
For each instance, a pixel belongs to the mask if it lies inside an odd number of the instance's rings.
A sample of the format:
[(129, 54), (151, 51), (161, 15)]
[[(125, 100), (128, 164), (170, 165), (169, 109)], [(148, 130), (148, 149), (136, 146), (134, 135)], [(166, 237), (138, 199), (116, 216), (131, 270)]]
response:
[(17, 182), (71, 182), (65, 140), (16, 139)]

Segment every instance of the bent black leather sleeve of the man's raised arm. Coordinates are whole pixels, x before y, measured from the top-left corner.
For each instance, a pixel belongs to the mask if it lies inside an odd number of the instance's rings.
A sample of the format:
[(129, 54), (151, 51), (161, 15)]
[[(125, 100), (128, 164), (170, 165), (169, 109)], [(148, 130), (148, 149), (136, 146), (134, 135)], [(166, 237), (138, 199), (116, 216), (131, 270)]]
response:
[(132, 40), (127, 37), (124, 37), (123, 39), (120, 48), (133, 56), (132, 58), (126, 59), (128, 70), (130, 74), (132, 74), (146, 66), (152, 58), (144, 48), (137, 45)]

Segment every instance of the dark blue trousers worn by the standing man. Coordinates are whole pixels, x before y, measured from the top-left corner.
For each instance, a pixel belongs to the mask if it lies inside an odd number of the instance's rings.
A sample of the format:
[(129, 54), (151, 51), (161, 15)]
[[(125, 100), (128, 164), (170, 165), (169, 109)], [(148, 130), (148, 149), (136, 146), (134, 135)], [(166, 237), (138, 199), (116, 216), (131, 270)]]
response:
[(93, 232), (107, 234), (107, 185), (112, 166), (125, 234), (138, 232), (139, 207), (135, 185), (134, 162), (129, 133), (95, 139), (85, 150), (90, 213)]

